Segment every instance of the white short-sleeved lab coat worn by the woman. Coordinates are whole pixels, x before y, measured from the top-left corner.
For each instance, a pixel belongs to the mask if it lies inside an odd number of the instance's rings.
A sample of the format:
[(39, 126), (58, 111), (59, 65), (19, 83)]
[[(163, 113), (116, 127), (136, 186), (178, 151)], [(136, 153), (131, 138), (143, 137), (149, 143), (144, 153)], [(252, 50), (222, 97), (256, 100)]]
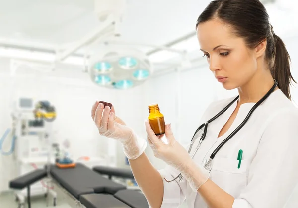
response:
[[(234, 98), (212, 103), (201, 123), (215, 116)], [(236, 102), (210, 123), (207, 136), (194, 160), (199, 164), (208, 160), (214, 149), (242, 123), (254, 104), (242, 104), (232, 126), (220, 138), (217, 136), (233, 113)], [(196, 146), (197, 143), (193, 150)], [(238, 169), (240, 149), (243, 156)], [(160, 170), (160, 173), (167, 179), (179, 174), (170, 166)], [(235, 198), (232, 208), (285, 206), (298, 183), (298, 109), (280, 89), (253, 112), (244, 127), (217, 153), (212, 162), (210, 179)], [(200, 194), (191, 190), (186, 180), (164, 181), (161, 208), (177, 208), (185, 199), (188, 208), (208, 207)]]

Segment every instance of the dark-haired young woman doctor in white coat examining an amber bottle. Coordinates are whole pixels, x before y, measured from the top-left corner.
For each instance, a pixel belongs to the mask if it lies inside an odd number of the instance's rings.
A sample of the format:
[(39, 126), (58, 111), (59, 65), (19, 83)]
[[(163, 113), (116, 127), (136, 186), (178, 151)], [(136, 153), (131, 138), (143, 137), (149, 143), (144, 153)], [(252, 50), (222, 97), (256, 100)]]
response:
[[(170, 125), (166, 126), (166, 144), (146, 122), (154, 155), (168, 164), (156, 170), (144, 153), (146, 140), (116, 117), (113, 107), (103, 109), (96, 102), (92, 118), (99, 133), (122, 143), (135, 179), (152, 208), (175, 208), (185, 199), (189, 208), (283, 208), (298, 183), (298, 109), (290, 101), (293, 78), (285, 45), (274, 33), (259, 0), (214, 0), (199, 16), (196, 29), (210, 70), (225, 89), (237, 88), (239, 98), (209, 124), (195, 157), (191, 159), (195, 148), (188, 154), (175, 140)], [(224, 144), (210, 164), (211, 171), (207, 171), (204, 162), (274, 87), (275, 80), (277, 87)], [(212, 103), (200, 124), (234, 99)], [(194, 147), (197, 142), (199, 139)], [(181, 182), (167, 182), (179, 173)]]

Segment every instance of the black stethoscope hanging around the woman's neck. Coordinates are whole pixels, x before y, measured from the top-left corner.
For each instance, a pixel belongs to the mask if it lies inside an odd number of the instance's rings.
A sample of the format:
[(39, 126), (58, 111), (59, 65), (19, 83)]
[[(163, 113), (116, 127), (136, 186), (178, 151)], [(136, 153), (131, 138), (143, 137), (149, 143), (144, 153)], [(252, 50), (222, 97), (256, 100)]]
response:
[[(210, 158), (207, 162), (207, 160), (205, 161), (205, 164), (203, 165), (204, 168), (206, 170), (208, 170), (209, 172), (211, 171), (211, 161), (213, 160), (213, 158), (215, 157), (215, 155), (220, 151), (220, 149), (224, 146), (224, 144), (231, 139), (243, 126), (244, 124), (246, 124), (247, 120), (249, 119), (249, 117), (251, 116), (251, 114), (254, 112), (254, 110), (262, 103), (264, 102), (264, 100), (266, 100), (269, 95), (274, 91), (274, 89), (277, 87), (278, 82), (276, 80), (274, 80), (274, 85), (271, 87), (271, 89), (252, 107), (252, 109), (248, 112), (247, 116), (245, 117), (245, 119), (243, 120), (243, 122), (229, 135), (227, 136), (227, 138), (224, 139), (224, 141), (222, 141), (220, 143), (220, 145), (212, 152), (212, 154), (210, 155)], [(215, 115), (213, 118), (211, 118), (210, 120), (208, 120), (206, 123), (202, 124), (201, 126), (199, 126), (199, 128), (196, 130), (194, 136), (191, 139), (189, 148), (188, 148), (188, 154), (190, 154), (191, 149), (193, 144), (195, 143), (195, 141), (197, 140), (198, 137), (195, 138), (195, 135), (198, 133), (198, 131), (202, 130), (202, 128), (204, 127), (203, 130), (203, 134), (201, 135), (201, 138), (199, 140), (198, 146), (195, 149), (194, 153), (192, 154), (191, 158), (193, 159), (194, 156), (196, 155), (197, 151), (199, 150), (202, 142), (204, 141), (206, 134), (207, 134), (207, 128), (208, 125), (213, 122), (215, 119), (217, 119), (218, 117), (220, 117), (236, 100), (238, 100), (239, 95), (232, 100), (232, 102), (230, 102), (227, 106), (224, 107), (224, 109), (222, 111), (220, 111), (217, 115)], [(164, 178), (164, 180), (166, 182), (172, 182), (175, 181), (177, 178), (179, 177), (179, 181), (181, 182), (183, 179), (182, 174), (180, 173), (177, 177), (175, 177), (173, 180), (167, 180)]]

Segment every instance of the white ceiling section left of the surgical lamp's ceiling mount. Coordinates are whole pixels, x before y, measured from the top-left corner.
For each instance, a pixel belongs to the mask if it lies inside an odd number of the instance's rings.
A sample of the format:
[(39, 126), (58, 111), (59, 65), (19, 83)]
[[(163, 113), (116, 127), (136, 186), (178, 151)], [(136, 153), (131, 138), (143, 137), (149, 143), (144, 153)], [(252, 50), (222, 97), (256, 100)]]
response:
[(92, 0), (1, 0), (1, 37), (62, 44), (96, 24)]

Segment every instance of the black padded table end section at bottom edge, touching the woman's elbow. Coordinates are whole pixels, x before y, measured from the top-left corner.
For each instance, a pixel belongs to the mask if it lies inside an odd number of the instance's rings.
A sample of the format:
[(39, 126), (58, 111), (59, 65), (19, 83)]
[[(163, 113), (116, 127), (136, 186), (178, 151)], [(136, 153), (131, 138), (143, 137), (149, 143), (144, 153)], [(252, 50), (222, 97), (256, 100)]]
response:
[(132, 208), (149, 208), (146, 197), (136, 190), (120, 190), (114, 197)]

